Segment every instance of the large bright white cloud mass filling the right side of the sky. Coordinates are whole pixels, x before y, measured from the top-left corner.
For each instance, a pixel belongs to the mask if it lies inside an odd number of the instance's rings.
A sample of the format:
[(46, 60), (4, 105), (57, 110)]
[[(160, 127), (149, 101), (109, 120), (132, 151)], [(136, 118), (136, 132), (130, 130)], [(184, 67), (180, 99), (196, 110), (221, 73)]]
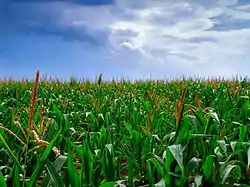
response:
[(213, 27), (250, 19), (249, 7), (237, 0), (117, 0), (115, 6), (67, 6), (58, 23), (107, 31), (107, 56), (117, 67), (131, 66), (130, 74), (231, 77), (250, 74), (250, 28)]

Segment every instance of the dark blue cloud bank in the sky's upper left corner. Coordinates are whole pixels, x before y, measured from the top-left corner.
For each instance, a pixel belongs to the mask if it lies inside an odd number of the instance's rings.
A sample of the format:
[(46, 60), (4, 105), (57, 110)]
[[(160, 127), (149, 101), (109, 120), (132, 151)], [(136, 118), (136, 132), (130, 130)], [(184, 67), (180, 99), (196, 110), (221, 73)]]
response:
[[(73, 28), (58, 25), (57, 22), (62, 15), (63, 8), (65, 8), (62, 3), (56, 3), (59, 1), (25, 0), (22, 3), (15, 2), (17, 1), (8, 1), (0, 7), (0, 39), (22, 33), (28, 35), (54, 35), (66, 40), (77, 40), (92, 45), (102, 45), (107, 40), (108, 31), (93, 30), (87, 26)], [(103, 5), (105, 3), (111, 3), (111, 0), (77, 1), (77, 4), (84, 5)]]

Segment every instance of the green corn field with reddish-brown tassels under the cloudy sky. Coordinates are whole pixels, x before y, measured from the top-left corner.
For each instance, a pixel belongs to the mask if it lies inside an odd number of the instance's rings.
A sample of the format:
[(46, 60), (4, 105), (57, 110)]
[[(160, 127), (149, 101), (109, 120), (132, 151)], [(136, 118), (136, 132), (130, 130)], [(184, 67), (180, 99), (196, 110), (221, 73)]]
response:
[(0, 186), (250, 186), (246, 80), (0, 82)]

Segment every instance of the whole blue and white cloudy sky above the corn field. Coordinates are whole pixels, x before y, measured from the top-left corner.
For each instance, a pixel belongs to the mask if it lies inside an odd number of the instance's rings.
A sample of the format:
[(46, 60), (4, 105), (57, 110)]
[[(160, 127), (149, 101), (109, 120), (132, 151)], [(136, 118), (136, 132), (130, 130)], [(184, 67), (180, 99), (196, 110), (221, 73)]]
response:
[(0, 0), (0, 78), (250, 75), (250, 0)]

